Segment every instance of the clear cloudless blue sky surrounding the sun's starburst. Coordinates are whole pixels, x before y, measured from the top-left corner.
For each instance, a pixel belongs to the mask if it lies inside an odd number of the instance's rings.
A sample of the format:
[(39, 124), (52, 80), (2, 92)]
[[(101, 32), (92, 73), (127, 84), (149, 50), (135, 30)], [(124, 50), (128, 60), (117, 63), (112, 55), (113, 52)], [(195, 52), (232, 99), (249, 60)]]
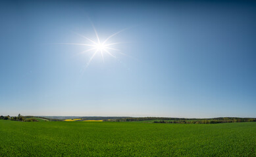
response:
[[(256, 117), (255, 1), (1, 1), (0, 114)], [(113, 58), (91, 52), (116, 31)]]

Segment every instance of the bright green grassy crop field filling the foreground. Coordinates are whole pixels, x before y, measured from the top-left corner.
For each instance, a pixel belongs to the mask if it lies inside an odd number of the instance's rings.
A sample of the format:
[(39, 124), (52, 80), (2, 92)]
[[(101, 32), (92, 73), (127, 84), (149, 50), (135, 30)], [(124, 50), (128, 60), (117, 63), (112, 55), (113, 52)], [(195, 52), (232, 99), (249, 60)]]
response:
[(256, 156), (256, 122), (0, 120), (0, 156)]

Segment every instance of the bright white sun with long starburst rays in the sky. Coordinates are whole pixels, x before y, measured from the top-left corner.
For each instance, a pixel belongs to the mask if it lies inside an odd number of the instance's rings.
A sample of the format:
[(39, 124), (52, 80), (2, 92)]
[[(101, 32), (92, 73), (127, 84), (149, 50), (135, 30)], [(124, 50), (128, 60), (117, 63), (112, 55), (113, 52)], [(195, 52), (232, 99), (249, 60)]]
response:
[[(104, 54), (107, 54), (107, 55), (109, 55), (113, 58), (116, 58), (116, 56), (112, 52), (113, 50), (115, 52), (118, 52), (119, 54), (124, 54), (122, 52), (119, 52), (118, 49), (112, 47), (115, 44), (120, 44), (120, 42), (119, 43), (107, 43), (107, 42), (109, 41), (109, 39), (111, 39), (112, 37), (114, 37), (118, 33), (124, 31), (125, 29), (122, 29), (121, 31), (118, 31), (118, 32), (114, 33), (113, 35), (110, 35), (109, 37), (107, 37), (107, 39), (105, 39), (102, 42), (100, 41), (99, 35), (98, 35), (94, 26), (93, 26), (93, 30), (95, 32), (97, 41), (93, 41), (93, 40), (89, 39), (88, 37), (85, 37), (84, 35), (80, 35), (80, 34), (76, 33), (80, 37), (83, 37), (84, 39), (86, 39), (89, 43), (62, 43), (62, 44), (73, 44), (73, 45), (86, 46), (86, 50), (84, 50), (83, 52), (80, 52), (80, 54), (83, 54), (83, 53), (86, 53), (86, 52), (93, 52), (93, 54), (90, 57), (90, 60), (86, 64), (86, 67), (88, 67), (90, 65), (91, 60), (93, 60), (95, 55), (98, 54), (98, 53), (101, 54), (101, 58), (102, 58), (103, 61), (104, 61)], [(124, 54), (124, 55), (126, 55), (126, 54)]]

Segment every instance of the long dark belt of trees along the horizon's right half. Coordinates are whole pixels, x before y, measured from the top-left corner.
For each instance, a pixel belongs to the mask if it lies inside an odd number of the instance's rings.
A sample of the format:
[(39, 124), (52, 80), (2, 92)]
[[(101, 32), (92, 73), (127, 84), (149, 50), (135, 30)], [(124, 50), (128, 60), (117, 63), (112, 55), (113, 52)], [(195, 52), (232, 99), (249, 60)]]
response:
[(237, 118), (237, 117), (219, 117), (219, 118), (166, 118), (166, 117), (136, 117), (136, 118), (118, 118), (115, 122), (137, 122), (144, 120), (155, 120), (154, 123), (180, 123), (180, 124), (215, 124), (227, 122), (256, 122), (256, 118)]

